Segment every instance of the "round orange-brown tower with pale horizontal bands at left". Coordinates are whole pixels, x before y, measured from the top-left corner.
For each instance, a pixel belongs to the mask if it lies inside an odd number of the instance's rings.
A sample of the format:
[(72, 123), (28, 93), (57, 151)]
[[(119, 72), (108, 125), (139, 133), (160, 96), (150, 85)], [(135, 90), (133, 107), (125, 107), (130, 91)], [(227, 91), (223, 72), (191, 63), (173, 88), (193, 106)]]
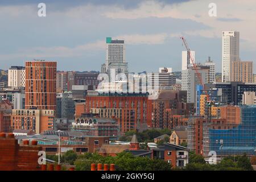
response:
[(56, 71), (56, 62), (26, 61), (26, 109), (56, 110)]

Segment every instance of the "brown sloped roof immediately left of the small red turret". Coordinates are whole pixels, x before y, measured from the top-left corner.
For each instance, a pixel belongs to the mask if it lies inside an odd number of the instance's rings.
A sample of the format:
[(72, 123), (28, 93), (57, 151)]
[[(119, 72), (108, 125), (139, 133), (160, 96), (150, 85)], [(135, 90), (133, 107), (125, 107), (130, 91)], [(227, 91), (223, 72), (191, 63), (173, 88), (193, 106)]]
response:
[(118, 154), (125, 150), (129, 150), (129, 144), (102, 144), (99, 153), (103, 154)]

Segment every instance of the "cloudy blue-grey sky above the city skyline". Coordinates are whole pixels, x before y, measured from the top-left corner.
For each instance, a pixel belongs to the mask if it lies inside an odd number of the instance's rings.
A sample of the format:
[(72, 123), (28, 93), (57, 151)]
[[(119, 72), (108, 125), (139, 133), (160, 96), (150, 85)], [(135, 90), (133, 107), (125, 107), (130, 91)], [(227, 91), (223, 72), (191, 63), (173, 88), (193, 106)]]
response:
[[(208, 15), (212, 2), (216, 17)], [(112, 36), (125, 40), (129, 71), (180, 71), (185, 36), (196, 61), (211, 56), (220, 72), (221, 31), (229, 30), (240, 31), (241, 60), (256, 60), (255, 0), (1, 0), (0, 68), (44, 59), (59, 70), (100, 71)]]

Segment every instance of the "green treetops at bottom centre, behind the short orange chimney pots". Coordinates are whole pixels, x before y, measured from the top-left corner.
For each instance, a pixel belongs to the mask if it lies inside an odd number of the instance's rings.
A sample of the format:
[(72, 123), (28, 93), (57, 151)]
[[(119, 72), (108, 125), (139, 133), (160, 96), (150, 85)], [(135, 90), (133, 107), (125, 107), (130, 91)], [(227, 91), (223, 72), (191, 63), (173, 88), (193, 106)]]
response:
[(170, 164), (160, 159), (135, 157), (129, 152), (121, 152), (117, 156), (101, 156), (99, 154), (85, 154), (77, 158), (77, 171), (90, 171), (90, 164), (115, 164), (117, 171), (168, 171)]

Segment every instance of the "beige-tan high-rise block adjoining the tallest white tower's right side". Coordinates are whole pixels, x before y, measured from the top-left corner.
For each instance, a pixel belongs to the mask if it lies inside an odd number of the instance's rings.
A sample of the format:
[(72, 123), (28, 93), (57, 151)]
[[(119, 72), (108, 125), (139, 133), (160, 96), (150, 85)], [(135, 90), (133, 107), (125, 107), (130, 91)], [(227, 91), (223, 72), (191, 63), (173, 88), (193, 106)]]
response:
[(233, 61), (231, 81), (253, 82), (253, 61)]

